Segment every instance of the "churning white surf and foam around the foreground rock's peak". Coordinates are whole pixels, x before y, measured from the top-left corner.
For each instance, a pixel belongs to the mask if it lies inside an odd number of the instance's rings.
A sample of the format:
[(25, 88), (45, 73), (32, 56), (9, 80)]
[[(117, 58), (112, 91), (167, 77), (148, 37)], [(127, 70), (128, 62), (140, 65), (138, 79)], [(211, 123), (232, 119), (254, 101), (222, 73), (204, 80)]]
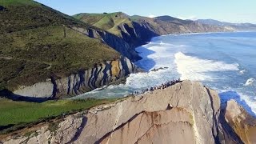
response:
[[(190, 37), (190, 34), (186, 35), (172, 34), (169, 36), (166, 35), (152, 38), (151, 42), (136, 49), (139, 55), (142, 57), (142, 60), (136, 62), (136, 64), (148, 71), (147, 73), (130, 74), (130, 77), (126, 79), (126, 84), (109, 86), (103, 90), (94, 90), (75, 98), (123, 97), (131, 94), (135, 90), (142, 90), (150, 86), (158, 86), (167, 80), (182, 77), (182, 79), (202, 81), (206, 86), (210, 86), (212, 88), (214, 87), (214, 89), (220, 92), (222, 99), (226, 101), (235, 99), (240, 105), (245, 107), (250, 114), (255, 116), (256, 97), (254, 97), (255, 93), (253, 90), (256, 80), (251, 79), (255, 78), (254, 75), (246, 77), (248, 74), (250, 74), (250, 69), (246, 68), (246, 70), (239, 70), (238, 63), (227, 63), (232, 61), (230, 61), (230, 59), (227, 57), (218, 57), (218, 53), (216, 53), (212, 47), (207, 47), (207, 43), (204, 43), (205, 41), (213, 43), (216, 42), (215, 40), (212, 40), (211, 38), (202, 38), (203, 41), (198, 41), (198, 39), (194, 39), (194, 41), (192, 41), (190, 39), (190, 41), (186, 42), (187, 40), (184, 37)], [(182, 40), (182, 38), (178, 38), (177, 42), (174, 41), (174, 39), (171, 39), (171, 37), (177, 38), (179, 36), (184, 38), (184, 40)], [(206, 34), (203, 34), (203, 37), (206, 36)], [(212, 35), (209, 36), (212, 37)], [(194, 36), (192, 35), (191, 38), (192, 37)], [(200, 34), (198, 34), (196, 38), (200, 39)], [(220, 39), (220, 37), (217, 39)], [(220, 39), (220, 46), (222, 46), (221, 41), (225, 39), (226, 38)], [(206, 46), (206, 52), (208, 52), (207, 50), (210, 50), (212, 54), (216, 54), (216, 59), (221, 60), (214, 61), (211, 59), (202, 59), (186, 55), (186, 53), (200, 55), (202, 53), (202, 51), (200, 51), (202, 50), (201, 44), (202, 46)], [(224, 47), (226, 46), (224, 45)], [(224, 50), (225, 53), (226, 49), (224, 49), (224, 47), (221, 49), (221, 51)], [(228, 53), (225, 54), (228, 55)], [(226, 61), (226, 59), (229, 61)], [(244, 65), (242, 62), (240, 63), (242, 66)], [(160, 67), (168, 68), (165, 70), (150, 71)], [(235, 79), (236, 77), (238, 77), (238, 79)]]

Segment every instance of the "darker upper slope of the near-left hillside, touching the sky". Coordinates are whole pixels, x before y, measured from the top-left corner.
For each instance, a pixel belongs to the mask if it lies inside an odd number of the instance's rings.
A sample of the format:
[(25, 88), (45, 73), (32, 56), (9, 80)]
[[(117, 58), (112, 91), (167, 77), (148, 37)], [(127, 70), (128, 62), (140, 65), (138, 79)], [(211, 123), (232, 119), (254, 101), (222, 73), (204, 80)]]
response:
[(85, 26), (91, 27), (66, 14), (32, 0), (1, 0), (0, 34), (17, 30), (28, 30), (42, 26)]

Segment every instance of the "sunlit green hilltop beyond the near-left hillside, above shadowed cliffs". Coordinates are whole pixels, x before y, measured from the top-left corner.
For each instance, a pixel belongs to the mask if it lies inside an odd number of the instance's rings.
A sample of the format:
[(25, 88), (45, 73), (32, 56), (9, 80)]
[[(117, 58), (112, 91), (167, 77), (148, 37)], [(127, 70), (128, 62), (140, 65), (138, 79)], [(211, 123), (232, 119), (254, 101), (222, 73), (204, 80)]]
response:
[(121, 24), (126, 24), (130, 28), (133, 28), (130, 18), (122, 12), (110, 13), (110, 14), (76, 14), (74, 18), (81, 20), (82, 22), (89, 23), (103, 30), (107, 30), (112, 34), (121, 36)]

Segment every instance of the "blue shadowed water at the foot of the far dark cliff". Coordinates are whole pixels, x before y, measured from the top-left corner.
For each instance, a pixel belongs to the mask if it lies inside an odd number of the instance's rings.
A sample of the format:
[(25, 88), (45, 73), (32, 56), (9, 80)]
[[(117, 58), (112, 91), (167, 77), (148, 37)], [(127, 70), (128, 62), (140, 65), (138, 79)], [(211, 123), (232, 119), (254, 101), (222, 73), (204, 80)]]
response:
[(142, 57), (142, 59), (138, 62), (135, 62), (135, 64), (141, 67), (143, 70), (149, 71), (155, 66), (156, 63), (154, 62), (154, 59), (148, 58), (148, 56), (154, 54), (155, 52), (153, 50), (147, 49), (144, 46), (139, 46), (138, 49), (138, 54)]

